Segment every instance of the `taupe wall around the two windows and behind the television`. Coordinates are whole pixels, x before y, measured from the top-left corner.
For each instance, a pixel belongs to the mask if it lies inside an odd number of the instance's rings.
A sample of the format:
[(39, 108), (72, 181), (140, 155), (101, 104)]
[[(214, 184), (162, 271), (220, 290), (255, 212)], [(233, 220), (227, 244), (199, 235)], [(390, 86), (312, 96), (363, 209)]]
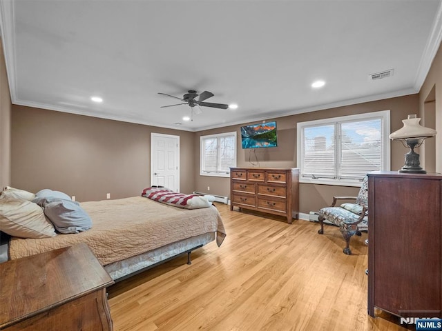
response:
[[(418, 94), (412, 94), (405, 97), (372, 101), (352, 106), (275, 118), (278, 126), (278, 147), (256, 150), (259, 166), (274, 168), (296, 168), (296, 126), (298, 122), (325, 119), (327, 117), (340, 117), (350, 114), (361, 114), (365, 112), (376, 112), (379, 110), (390, 110), (390, 126), (391, 132), (393, 132), (402, 127), (402, 119), (407, 118), (407, 114), (416, 114), (419, 111), (418, 105)], [(253, 167), (253, 165), (249, 163), (249, 155), (251, 153), (250, 150), (243, 150), (241, 148), (240, 127), (242, 125), (197, 132), (195, 137), (195, 160), (198, 161), (200, 157), (199, 144), (201, 135), (236, 131), (238, 137), (238, 166)], [(391, 147), (392, 170), (397, 170), (402, 167), (404, 162), (404, 154), (407, 152), (407, 150), (403, 148), (401, 143), (398, 143), (397, 141), (392, 142)], [(254, 155), (251, 155), (252, 161), (255, 161)], [(209, 186), (212, 194), (219, 194), (223, 196), (230, 195), (229, 179), (200, 176), (199, 168), (199, 165), (197, 165), (197, 168), (195, 168), (196, 190), (207, 192), (206, 189), (207, 186)], [(334, 195), (356, 195), (357, 193), (358, 188), (301, 183), (299, 201), (300, 212), (308, 213), (311, 210), (318, 210), (325, 205), (329, 205), (332, 203)]]

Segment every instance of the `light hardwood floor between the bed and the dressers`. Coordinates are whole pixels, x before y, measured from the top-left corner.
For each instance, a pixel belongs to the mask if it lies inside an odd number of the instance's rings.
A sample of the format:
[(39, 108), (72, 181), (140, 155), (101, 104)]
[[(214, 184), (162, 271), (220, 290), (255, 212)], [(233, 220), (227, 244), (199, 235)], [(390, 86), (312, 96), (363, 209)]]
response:
[[(114, 330), (407, 330), (397, 317), (367, 315), (367, 246), (338, 228), (231, 212), (227, 231), (186, 257), (108, 288)], [(410, 328), (410, 330), (412, 330)]]

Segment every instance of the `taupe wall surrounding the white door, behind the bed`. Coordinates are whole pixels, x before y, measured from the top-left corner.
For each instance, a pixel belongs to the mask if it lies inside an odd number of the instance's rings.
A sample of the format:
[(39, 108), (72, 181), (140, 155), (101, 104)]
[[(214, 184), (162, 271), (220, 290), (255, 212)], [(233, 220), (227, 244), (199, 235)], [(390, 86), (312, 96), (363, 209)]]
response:
[(151, 132), (180, 136), (180, 190), (193, 190), (193, 132), (12, 107), (12, 186), (78, 201), (133, 197), (150, 185)]

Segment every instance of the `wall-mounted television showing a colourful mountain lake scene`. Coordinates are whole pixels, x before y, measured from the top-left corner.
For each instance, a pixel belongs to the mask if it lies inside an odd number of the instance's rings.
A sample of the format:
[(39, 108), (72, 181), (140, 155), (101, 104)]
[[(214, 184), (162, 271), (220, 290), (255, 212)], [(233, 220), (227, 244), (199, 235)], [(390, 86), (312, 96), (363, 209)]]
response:
[(242, 148), (262, 148), (278, 146), (276, 121), (241, 127)]

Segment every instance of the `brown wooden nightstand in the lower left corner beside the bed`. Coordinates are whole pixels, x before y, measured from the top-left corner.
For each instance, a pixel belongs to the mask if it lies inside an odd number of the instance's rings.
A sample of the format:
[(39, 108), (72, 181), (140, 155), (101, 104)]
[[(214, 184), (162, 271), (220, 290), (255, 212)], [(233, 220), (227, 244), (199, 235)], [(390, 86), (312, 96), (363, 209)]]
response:
[(0, 330), (111, 331), (111, 284), (84, 243), (1, 263)]

